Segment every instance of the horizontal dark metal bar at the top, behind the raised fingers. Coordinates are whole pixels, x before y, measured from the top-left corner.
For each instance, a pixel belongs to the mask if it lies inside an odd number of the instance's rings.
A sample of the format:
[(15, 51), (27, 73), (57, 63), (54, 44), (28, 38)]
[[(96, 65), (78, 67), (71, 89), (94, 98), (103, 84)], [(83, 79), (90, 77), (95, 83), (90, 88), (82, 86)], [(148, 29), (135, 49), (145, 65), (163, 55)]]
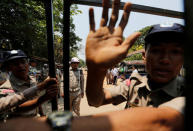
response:
[[(102, 0), (71, 0), (71, 2), (74, 4), (102, 7)], [(125, 2), (121, 2), (119, 9), (122, 10), (124, 4)], [(112, 7), (112, 2), (109, 8), (111, 7)], [(132, 4), (131, 11), (183, 19), (183, 12), (155, 8), (155, 7), (144, 6), (144, 5)]]

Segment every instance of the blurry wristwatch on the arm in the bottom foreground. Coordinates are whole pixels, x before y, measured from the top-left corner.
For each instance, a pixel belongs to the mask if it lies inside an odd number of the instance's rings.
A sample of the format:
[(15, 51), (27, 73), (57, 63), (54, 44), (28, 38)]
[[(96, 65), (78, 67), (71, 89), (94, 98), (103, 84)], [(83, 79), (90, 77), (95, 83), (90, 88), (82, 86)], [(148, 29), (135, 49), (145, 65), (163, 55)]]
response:
[(53, 131), (71, 131), (72, 118), (70, 111), (57, 111), (48, 116), (47, 122)]

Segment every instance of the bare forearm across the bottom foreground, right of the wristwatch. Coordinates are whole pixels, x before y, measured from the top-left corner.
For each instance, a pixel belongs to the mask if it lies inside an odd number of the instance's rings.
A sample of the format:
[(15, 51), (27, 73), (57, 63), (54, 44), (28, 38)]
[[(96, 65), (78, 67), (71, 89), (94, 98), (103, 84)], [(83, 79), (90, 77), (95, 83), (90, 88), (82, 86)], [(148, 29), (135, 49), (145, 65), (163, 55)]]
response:
[(184, 118), (169, 108), (132, 108), (75, 118), (72, 131), (183, 131)]

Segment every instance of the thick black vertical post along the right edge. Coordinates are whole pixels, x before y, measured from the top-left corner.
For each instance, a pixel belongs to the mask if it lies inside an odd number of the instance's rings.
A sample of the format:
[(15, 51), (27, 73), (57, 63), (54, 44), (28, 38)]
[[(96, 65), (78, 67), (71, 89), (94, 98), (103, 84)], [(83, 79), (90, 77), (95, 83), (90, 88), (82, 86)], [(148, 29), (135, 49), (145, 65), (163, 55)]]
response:
[(185, 108), (185, 130), (192, 130), (193, 121), (193, 1), (184, 0), (185, 9), (185, 33), (186, 44), (184, 48), (185, 55), (185, 69), (186, 69), (186, 83), (185, 83), (185, 95), (186, 95), (186, 108)]

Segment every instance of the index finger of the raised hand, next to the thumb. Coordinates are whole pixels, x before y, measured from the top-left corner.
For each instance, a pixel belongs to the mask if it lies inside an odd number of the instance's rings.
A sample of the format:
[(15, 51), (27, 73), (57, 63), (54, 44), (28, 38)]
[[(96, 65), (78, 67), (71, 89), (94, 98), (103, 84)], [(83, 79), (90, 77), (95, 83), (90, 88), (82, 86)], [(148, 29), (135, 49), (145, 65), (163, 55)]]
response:
[(128, 23), (128, 19), (129, 19), (129, 15), (130, 15), (130, 12), (131, 12), (131, 3), (128, 2), (124, 5), (124, 12), (123, 12), (123, 16), (121, 18), (121, 21), (120, 21), (120, 24), (119, 24), (119, 27), (121, 28), (121, 31), (123, 32), (123, 30), (125, 29), (125, 26), (127, 25)]

